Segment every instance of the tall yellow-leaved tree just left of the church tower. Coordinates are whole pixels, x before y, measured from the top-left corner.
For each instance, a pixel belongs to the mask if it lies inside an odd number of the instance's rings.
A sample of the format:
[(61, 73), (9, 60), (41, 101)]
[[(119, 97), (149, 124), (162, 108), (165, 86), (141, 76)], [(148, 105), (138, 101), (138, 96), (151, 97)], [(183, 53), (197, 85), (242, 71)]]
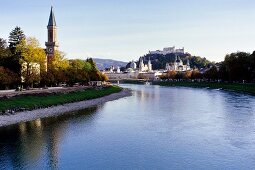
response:
[(39, 41), (32, 37), (22, 39), (17, 45), (17, 52), (21, 54), (21, 76), (25, 85), (39, 83), (40, 73), (46, 69), (46, 54)]

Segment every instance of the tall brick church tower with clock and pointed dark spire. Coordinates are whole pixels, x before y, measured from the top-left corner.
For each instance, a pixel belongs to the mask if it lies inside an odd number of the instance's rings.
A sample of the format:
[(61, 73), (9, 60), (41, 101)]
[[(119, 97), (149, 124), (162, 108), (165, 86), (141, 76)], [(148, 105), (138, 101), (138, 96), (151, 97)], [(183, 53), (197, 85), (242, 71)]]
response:
[(45, 45), (47, 54), (47, 64), (49, 64), (52, 58), (54, 57), (55, 51), (58, 50), (57, 24), (53, 12), (53, 7), (51, 7), (47, 29), (48, 29), (48, 41), (45, 43)]

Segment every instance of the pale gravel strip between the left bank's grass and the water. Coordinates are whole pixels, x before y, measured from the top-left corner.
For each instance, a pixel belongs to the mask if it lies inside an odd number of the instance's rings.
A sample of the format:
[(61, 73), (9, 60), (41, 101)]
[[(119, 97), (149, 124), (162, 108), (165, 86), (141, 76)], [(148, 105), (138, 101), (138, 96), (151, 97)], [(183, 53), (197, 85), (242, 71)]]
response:
[(86, 109), (92, 106), (100, 105), (109, 101), (117, 100), (132, 95), (131, 90), (123, 89), (118, 93), (113, 93), (104, 97), (85, 100), (74, 103), (67, 103), (58, 106), (52, 106), (43, 109), (35, 109), (31, 111), (18, 112), (15, 115), (0, 115), (0, 128), (9, 125), (14, 125), (21, 122), (29, 122), (36, 119), (56, 117), (64, 115), (68, 112)]

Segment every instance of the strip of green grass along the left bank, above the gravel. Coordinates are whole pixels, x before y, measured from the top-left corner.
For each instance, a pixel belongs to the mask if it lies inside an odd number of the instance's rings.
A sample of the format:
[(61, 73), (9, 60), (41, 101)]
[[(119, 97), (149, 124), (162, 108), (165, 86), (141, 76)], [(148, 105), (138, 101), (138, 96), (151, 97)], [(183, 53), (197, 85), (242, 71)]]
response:
[(95, 99), (112, 93), (118, 93), (122, 88), (118, 86), (110, 86), (102, 89), (87, 89), (83, 91), (76, 91), (71, 93), (61, 93), (48, 96), (18, 96), (10, 99), (1, 99), (0, 111), (5, 111), (15, 108), (36, 109), (42, 107), (49, 107), (65, 103), (72, 103), (83, 100)]

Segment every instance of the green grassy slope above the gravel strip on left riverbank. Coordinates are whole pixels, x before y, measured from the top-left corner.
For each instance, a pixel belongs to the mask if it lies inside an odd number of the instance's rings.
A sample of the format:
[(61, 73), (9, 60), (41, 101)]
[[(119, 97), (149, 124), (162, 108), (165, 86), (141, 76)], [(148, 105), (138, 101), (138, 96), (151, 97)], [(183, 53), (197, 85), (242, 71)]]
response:
[(49, 92), (48, 90), (33, 91), (26, 94), (16, 94), (14, 97), (1, 98), (0, 113), (19, 112), (45, 108), (54, 105), (72, 103), (82, 100), (95, 99), (112, 93), (118, 93), (122, 88), (118, 86), (108, 86), (102, 88), (65, 88), (61, 91)]

